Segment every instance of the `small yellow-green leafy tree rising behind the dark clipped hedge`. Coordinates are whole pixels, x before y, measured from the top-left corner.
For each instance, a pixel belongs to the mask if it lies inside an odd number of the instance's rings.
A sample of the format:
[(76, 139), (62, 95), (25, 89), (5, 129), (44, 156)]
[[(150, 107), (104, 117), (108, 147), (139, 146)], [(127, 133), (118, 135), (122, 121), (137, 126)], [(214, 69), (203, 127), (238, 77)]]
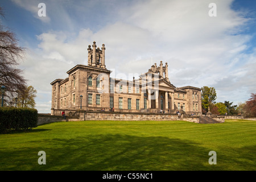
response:
[(18, 92), (18, 107), (35, 108), (36, 89), (33, 86), (27, 86), (24, 90)]

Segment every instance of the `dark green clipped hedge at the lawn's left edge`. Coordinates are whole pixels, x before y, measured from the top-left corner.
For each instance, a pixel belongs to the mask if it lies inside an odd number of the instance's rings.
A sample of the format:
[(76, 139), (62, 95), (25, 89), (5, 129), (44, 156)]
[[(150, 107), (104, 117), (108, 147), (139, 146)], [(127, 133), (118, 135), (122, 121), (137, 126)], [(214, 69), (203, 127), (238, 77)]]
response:
[(6, 130), (28, 130), (38, 125), (38, 110), (0, 107), (0, 133)]

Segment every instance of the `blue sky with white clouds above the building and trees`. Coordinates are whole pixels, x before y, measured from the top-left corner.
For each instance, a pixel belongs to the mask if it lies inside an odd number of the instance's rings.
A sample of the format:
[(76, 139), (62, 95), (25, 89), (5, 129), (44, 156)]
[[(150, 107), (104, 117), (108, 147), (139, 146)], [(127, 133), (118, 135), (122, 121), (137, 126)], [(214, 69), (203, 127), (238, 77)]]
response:
[[(46, 16), (39, 16), (39, 3)], [(217, 102), (238, 104), (256, 93), (255, 1), (11, 0), (0, 6), (2, 24), (26, 48), (20, 68), (38, 90), (39, 113), (51, 111), (50, 83), (87, 65), (93, 41), (105, 44), (112, 77), (138, 75), (163, 61), (172, 84), (212, 86)]]

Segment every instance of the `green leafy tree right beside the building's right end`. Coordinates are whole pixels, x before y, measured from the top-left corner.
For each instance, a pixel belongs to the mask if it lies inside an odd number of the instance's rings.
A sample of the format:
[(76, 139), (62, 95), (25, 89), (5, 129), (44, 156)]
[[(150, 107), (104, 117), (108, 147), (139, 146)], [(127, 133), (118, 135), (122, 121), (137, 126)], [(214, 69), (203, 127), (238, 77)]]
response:
[(217, 94), (216, 90), (213, 87), (203, 86), (201, 88), (201, 97), (202, 97), (202, 109), (208, 111), (209, 105), (216, 100)]

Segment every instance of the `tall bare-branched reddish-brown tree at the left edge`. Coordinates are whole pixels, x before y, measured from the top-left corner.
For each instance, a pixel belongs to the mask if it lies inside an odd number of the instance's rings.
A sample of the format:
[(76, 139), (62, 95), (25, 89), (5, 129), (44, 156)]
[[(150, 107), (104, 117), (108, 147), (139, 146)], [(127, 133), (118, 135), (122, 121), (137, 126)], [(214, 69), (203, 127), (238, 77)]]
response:
[[(4, 17), (0, 7), (0, 16)], [(15, 34), (2, 26), (0, 21), (0, 85), (6, 86), (5, 101), (10, 102), (18, 90), (26, 86), (22, 70), (16, 68), (24, 57), (24, 48), (18, 46)]]

